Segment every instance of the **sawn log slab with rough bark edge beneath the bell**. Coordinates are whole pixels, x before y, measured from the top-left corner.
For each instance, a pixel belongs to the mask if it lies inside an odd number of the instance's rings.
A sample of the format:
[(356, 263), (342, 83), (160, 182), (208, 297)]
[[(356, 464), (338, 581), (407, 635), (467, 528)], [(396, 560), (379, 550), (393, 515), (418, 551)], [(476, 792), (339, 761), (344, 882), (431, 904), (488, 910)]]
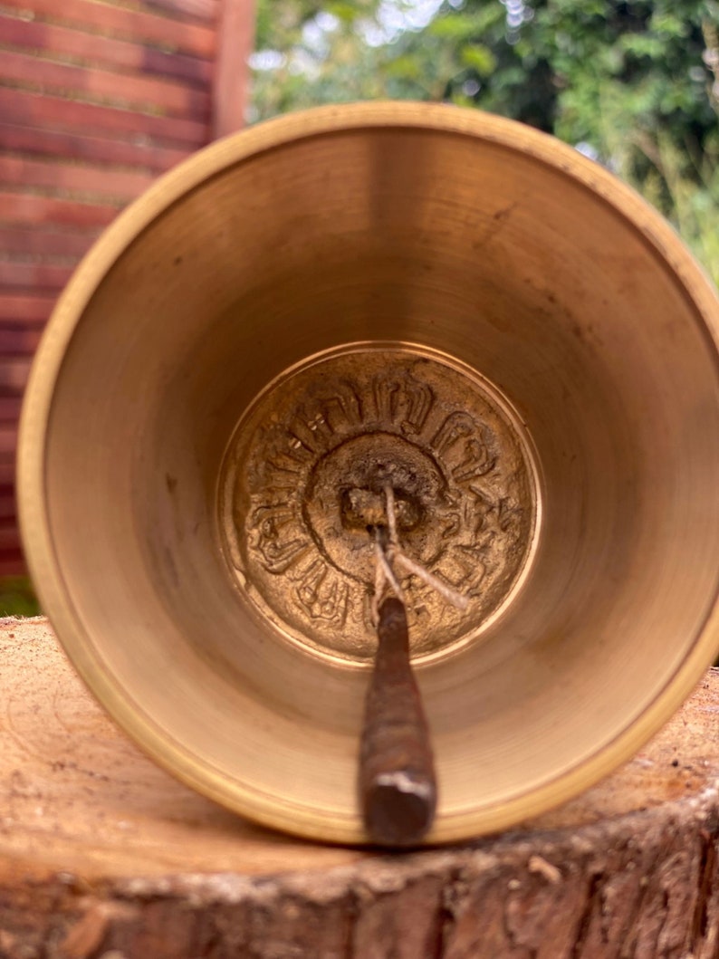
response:
[(0, 956), (715, 959), (719, 675), (521, 828), (393, 855), (252, 826), (105, 717), (46, 620), (0, 622)]

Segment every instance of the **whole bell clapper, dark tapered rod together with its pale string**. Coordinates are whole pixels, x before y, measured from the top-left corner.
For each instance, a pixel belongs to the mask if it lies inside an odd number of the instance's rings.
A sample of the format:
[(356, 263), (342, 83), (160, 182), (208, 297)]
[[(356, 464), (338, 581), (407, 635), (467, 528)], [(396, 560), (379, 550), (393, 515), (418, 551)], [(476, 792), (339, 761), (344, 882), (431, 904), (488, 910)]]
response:
[[(385, 522), (367, 526), (377, 557), (372, 614), (378, 646), (365, 701), (359, 795), (364, 827), (373, 842), (407, 847), (419, 843), (431, 828), (437, 781), (427, 717), (410, 665), (405, 596), (395, 566), (419, 576), (459, 609), (466, 609), (468, 600), (406, 556), (398, 542), (389, 485), (384, 500)], [(394, 596), (385, 596), (388, 590)]]

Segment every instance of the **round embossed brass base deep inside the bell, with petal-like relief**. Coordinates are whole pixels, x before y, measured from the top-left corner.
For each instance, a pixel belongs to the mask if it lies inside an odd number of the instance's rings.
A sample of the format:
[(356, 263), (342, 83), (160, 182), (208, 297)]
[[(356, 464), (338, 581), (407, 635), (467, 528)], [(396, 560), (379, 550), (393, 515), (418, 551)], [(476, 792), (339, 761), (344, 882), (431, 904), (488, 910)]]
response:
[(352, 662), (376, 648), (372, 529), (387, 485), (402, 550), (470, 600), (459, 611), (400, 575), (414, 659), (494, 620), (535, 539), (518, 417), (468, 367), (404, 344), (348, 347), (279, 377), (244, 414), (220, 482), (220, 536), (244, 594), (295, 641)]

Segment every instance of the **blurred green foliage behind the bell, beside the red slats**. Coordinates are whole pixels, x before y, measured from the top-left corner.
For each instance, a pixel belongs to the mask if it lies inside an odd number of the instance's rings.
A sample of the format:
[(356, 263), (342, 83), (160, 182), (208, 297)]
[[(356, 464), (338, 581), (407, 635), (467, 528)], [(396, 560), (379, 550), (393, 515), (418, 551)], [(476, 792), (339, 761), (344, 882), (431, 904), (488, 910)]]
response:
[(636, 186), (719, 280), (718, 37), (719, 0), (259, 0), (254, 118), (377, 98), (513, 117)]

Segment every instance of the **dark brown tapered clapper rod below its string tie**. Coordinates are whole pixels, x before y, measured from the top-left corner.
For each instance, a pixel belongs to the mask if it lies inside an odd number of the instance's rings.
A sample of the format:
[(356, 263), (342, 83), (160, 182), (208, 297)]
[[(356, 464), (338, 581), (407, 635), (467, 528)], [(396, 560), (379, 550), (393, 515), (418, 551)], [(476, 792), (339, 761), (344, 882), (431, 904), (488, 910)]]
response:
[(415, 846), (427, 834), (437, 806), (429, 728), (409, 665), (404, 604), (380, 607), (379, 644), (367, 690), (359, 757), (364, 825), (382, 846)]

